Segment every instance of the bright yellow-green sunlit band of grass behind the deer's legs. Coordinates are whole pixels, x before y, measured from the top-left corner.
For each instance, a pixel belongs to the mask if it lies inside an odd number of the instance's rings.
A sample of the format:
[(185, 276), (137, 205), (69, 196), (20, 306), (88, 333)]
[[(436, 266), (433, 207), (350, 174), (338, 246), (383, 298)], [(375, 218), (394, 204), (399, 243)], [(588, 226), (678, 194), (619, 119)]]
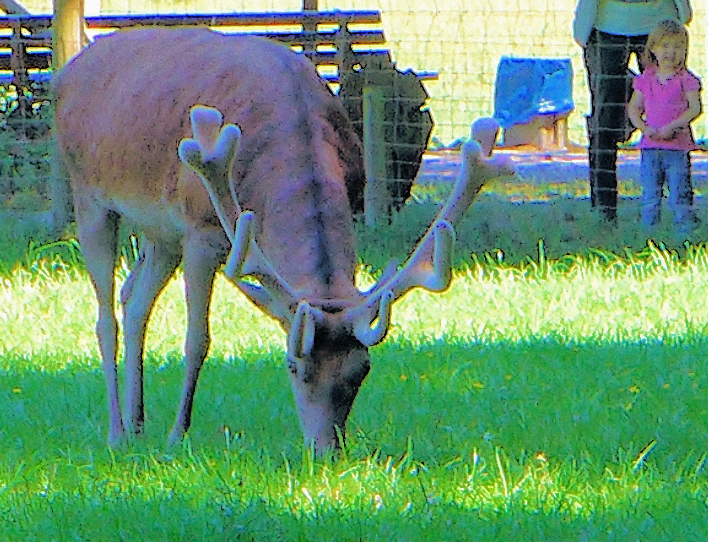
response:
[[(411, 291), (393, 308), (389, 337), (418, 346), (445, 337), (485, 344), (547, 338), (603, 344), (708, 336), (706, 245), (690, 246), (683, 258), (651, 241), (625, 257), (590, 249), (589, 257), (551, 259), (542, 246), (537, 250), (537, 259), (515, 265), (495, 261), (489, 253), (484, 258), (475, 254), (476, 263), (462, 262), (446, 293)], [(122, 261), (117, 290), (128, 272)], [(358, 275), (362, 288), (372, 280), (370, 271), (362, 268)], [(146, 348), (156, 355), (182, 349), (183, 288), (177, 273), (154, 307)], [(0, 319), (13, 330), (0, 336), (0, 355), (96, 358), (96, 312), (93, 289), (80, 266), (58, 256), (35, 261), (29, 270), (5, 278), (0, 289)], [(222, 276), (215, 283), (210, 329), (210, 352), (217, 357), (270, 355), (285, 348), (278, 324)], [(60, 370), (62, 363), (50, 368)]]

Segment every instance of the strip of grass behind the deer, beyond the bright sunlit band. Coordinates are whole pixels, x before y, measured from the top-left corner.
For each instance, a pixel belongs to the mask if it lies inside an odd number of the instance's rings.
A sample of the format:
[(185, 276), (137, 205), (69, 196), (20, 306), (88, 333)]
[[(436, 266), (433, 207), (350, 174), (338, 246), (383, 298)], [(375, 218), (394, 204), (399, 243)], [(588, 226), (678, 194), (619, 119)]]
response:
[[(639, 224), (639, 199), (622, 198), (617, 207), (618, 226), (607, 230), (600, 213), (593, 211), (588, 199), (582, 199), (581, 184), (530, 185), (500, 179), (491, 182), (456, 228), (455, 264), (472, 264), (472, 252), (481, 255), (496, 249), (503, 251), (505, 261), (518, 263), (527, 255), (537, 256), (539, 239), (544, 240), (547, 256), (552, 258), (566, 253), (588, 255), (588, 247), (603, 247), (618, 254), (624, 254), (624, 247), (629, 247), (636, 252), (646, 246), (649, 237), (683, 254), (685, 238), (675, 232), (670, 213), (664, 211), (661, 223), (651, 231), (645, 230)], [(370, 229), (358, 223), (355, 235), (360, 261), (376, 268), (384, 266), (391, 256), (403, 261), (438, 212), (447, 190), (449, 187), (416, 186), (410, 204), (394, 215), (392, 225)], [(636, 187), (626, 182), (620, 192), (636, 196)], [(702, 223), (689, 237), (693, 243), (708, 240), (708, 207), (702, 199), (696, 207)], [(47, 220), (47, 216), (7, 215), (0, 211), (0, 274), (8, 276), (18, 262), (27, 263), (30, 242), (42, 245), (52, 240)], [(124, 225), (120, 237), (126, 255), (130, 253), (129, 233)], [(67, 261), (72, 259), (66, 245), (42, 251), (50, 258), (55, 254)]]

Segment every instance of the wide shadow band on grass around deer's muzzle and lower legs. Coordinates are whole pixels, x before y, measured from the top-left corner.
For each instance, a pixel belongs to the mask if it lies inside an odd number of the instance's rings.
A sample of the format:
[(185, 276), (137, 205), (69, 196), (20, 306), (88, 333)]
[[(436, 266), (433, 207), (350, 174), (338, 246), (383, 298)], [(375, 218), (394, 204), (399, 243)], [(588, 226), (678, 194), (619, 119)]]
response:
[[(164, 444), (181, 391), (178, 357), (145, 367), (146, 444)], [(195, 449), (224, 447), (224, 426), (242, 444), (273, 456), (300, 454), (299, 429), (281, 355), (202, 369), (190, 438)], [(6, 459), (57, 449), (105, 449), (103, 373), (94, 362), (41, 372), (39, 358), (6, 358), (0, 377), (0, 447)], [(49, 365), (48, 363), (45, 365)], [(25, 367), (33, 367), (25, 370)], [(85, 365), (83, 367), (86, 367)], [(650, 440), (653, 461), (675, 467), (708, 450), (708, 350), (683, 345), (474, 346), (387, 342), (372, 350), (348, 424), (348, 447), (399, 456), (411, 436), (417, 459), (443, 464), (501, 446), (510, 456), (564, 459), (587, 454), (602, 469), (622, 447), (636, 454)]]

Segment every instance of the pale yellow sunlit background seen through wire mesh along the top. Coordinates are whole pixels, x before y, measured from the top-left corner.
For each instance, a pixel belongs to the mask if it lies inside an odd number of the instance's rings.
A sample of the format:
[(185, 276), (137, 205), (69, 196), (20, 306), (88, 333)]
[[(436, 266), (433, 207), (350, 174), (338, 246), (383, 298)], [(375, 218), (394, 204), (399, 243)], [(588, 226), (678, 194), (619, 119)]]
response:
[[(33, 13), (50, 13), (51, 0), (26, 0)], [(319, 9), (375, 9), (382, 12), (387, 47), (399, 69), (438, 71), (426, 81), (433, 134), (442, 141), (469, 135), (470, 124), (493, 114), (496, 68), (504, 55), (570, 58), (573, 99), (569, 118), (573, 141), (586, 144), (590, 112), (583, 52), (572, 36), (576, 0), (319, 0)], [(692, 1), (688, 66), (706, 78), (708, 0)], [(300, 11), (302, 0), (86, 0), (86, 13), (230, 13)], [(705, 103), (705, 85), (702, 101)], [(708, 116), (694, 124), (708, 135)]]

